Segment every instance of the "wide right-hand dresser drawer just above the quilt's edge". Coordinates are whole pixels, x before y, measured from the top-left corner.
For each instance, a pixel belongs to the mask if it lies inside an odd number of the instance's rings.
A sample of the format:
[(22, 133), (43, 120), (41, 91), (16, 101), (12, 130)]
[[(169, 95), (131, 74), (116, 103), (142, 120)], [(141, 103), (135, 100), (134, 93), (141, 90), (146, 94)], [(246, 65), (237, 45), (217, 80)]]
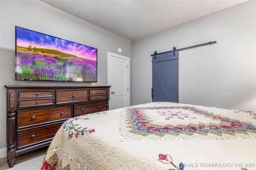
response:
[(76, 104), (74, 105), (74, 116), (85, 115), (106, 110), (106, 102), (96, 102), (90, 104)]

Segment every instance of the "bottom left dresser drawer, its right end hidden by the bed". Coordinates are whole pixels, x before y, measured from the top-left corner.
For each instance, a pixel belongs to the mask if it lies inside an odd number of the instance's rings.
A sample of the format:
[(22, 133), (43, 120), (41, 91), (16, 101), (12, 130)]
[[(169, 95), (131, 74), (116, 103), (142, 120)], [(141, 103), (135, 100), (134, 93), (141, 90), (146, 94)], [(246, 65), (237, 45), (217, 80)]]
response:
[(62, 125), (62, 123), (24, 131), (18, 131), (18, 149), (23, 146), (28, 147), (28, 145), (33, 145), (35, 143), (39, 143), (40, 141), (43, 142), (46, 140), (51, 140)]

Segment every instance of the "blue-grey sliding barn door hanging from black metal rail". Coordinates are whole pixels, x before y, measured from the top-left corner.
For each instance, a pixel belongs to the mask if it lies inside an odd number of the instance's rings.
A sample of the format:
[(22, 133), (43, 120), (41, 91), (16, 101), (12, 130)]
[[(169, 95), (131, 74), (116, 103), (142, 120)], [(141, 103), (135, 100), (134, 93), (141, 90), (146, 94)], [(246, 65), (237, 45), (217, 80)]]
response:
[(152, 101), (178, 103), (178, 51), (153, 56), (152, 67)]

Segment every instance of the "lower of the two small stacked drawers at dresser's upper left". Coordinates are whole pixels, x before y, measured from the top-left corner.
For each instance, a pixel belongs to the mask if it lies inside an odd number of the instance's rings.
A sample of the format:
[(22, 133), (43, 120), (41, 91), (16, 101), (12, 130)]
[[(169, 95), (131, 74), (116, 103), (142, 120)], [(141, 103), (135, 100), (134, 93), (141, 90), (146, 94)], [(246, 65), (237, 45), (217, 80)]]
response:
[(18, 107), (31, 107), (31, 106), (42, 106), (42, 105), (51, 105), (53, 104), (53, 98), (38, 98), (38, 99), (28, 99), (28, 100), (19, 100)]

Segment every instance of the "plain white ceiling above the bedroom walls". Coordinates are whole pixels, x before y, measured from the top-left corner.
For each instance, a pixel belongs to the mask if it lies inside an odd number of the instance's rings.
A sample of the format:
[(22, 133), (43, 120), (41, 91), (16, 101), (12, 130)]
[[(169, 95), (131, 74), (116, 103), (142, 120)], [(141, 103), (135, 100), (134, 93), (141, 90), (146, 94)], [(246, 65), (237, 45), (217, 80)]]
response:
[(246, 0), (41, 0), (130, 41)]

